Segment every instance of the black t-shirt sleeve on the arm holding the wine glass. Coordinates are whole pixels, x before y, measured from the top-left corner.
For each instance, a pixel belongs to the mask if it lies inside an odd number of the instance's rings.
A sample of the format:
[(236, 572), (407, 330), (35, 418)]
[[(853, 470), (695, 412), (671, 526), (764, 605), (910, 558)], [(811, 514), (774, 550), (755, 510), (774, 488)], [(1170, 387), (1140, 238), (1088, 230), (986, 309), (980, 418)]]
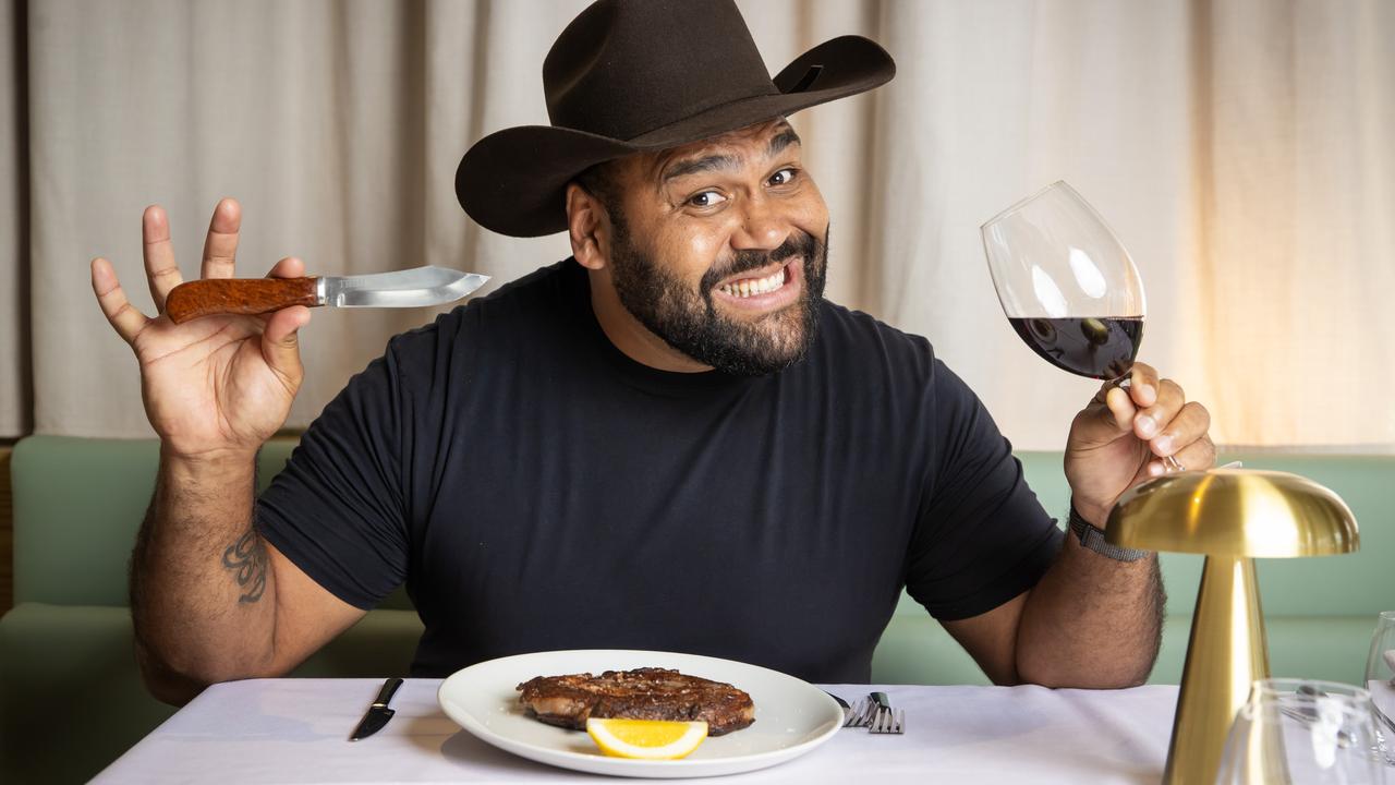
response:
[(1036, 585), (1062, 529), (978, 395), (935, 360), (930, 460), (907, 559), (907, 592), (936, 619), (968, 619)]

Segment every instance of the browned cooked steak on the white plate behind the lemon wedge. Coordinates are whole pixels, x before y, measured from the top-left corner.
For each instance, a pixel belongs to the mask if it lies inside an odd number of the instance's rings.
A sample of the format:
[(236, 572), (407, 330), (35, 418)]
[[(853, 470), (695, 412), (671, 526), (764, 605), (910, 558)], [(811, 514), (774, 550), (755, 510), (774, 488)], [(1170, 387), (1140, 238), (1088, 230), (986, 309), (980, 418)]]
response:
[(756, 704), (745, 691), (665, 668), (538, 676), (518, 690), (531, 717), (576, 731), (586, 728), (587, 717), (706, 719), (707, 735), (721, 736), (756, 719)]

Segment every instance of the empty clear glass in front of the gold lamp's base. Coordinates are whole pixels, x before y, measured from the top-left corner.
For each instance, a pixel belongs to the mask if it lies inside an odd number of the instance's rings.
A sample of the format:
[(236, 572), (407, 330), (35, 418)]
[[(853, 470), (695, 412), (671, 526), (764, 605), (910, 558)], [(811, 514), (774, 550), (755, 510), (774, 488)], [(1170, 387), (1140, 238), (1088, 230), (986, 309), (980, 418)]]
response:
[(1380, 785), (1371, 696), (1307, 679), (1260, 679), (1236, 712), (1216, 785)]

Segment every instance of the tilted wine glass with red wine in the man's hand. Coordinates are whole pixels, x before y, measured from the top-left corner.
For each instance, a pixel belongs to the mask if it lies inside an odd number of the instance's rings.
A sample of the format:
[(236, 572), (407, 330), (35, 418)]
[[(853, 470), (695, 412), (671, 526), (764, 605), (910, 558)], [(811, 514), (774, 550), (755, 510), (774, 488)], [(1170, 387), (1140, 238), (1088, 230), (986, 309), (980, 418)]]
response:
[[(1062, 370), (1127, 387), (1143, 342), (1143, 279), (1095, 208), (1057, 180), (981, 232), (1017, 335)], [(1182, 469), (1172, 455), (1163, 465)]]

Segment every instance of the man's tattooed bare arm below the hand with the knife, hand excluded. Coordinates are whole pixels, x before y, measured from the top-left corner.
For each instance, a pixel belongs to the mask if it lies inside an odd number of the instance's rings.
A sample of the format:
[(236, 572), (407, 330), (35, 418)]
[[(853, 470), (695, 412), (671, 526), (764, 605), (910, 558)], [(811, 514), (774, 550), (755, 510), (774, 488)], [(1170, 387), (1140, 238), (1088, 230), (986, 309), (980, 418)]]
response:
[(254, 493), (254, 455), (160, 451), (131, 556), (137, 659), (160, 700), (285, 675), (363, 616), (255, 532)]

